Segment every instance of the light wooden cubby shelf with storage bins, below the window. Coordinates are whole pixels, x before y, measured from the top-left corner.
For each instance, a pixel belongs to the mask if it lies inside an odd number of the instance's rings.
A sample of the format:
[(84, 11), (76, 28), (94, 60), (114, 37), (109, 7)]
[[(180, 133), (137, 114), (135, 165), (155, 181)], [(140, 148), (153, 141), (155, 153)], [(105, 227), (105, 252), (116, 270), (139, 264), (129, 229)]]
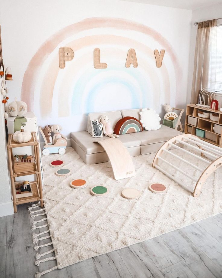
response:
[[(219, 120), (217, 122), (212, 121), (211, 119), (206, 119), (206, 118), (202, 118), (198, 116), (198, 110), (199, 111), (203, 111), (203, 112), (208, 112), (208, 113), (215, 113), (218, 114), (219, 116)], [(197, 125), (191, 125), (188, 123), (188, 116), (191, 116), (193, 118), (197, 119)], [(214, 132), (214, 124), (220, 125), (222, 126), (222, 112), (220, 112), (219, 110), (213, 110), (213, 109), (208, 109), (208, 108), (203, 108), (203, 107), (199, 107), (193, 104), (189, 104), (186, 107), (186, 123), (185, 123), (185, 133), (187, 134), (192, 134), (192, 135), (196, 135), (196, 128), (201, 129), (201, 130), (205, 130), (205, 132), (210, 132), (214, 137), (215, 137), (215, 141), (207, 139), (207, 138), (203, 138), (203, 137), (199, 137), (201, 140), (204, 140), (206, 142), (209, 142), (215, 146), (219, 146), (220, 148), (222, 148), (222, 140), (221, 138), (221, 134), (217, 134), (216, 132)], [(191, 132), (188, 131), (191, 130)]]

